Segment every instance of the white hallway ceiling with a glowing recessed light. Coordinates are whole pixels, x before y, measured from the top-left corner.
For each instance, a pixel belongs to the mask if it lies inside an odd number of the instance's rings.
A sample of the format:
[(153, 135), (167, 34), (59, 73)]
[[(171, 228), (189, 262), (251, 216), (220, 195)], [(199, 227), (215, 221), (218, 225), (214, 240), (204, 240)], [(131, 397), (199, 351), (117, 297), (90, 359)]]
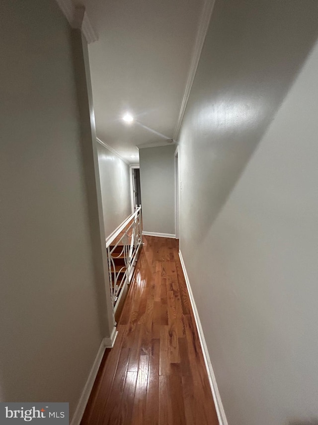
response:
[(88, 47), (97, 137), (137, 163), (137, 145), (176, 137), (206, 2), (82, 2), (98, 34)]

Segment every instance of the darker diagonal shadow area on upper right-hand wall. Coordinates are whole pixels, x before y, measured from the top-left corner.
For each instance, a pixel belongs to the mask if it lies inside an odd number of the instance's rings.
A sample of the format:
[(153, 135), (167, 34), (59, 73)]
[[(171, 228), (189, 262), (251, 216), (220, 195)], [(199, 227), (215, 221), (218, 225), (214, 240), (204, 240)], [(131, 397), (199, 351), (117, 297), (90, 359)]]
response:
[(315, 44), (317, 19), (317, 0), (216, 0), (180, 134), (198, 241)]

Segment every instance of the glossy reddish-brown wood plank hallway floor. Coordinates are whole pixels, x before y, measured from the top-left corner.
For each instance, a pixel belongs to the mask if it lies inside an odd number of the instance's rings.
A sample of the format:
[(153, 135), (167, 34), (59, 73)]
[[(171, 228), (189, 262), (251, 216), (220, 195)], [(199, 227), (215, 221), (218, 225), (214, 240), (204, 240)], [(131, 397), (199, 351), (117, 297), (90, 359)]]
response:
[(81, 425), (218, 425), (178, 241), (143, 238)]

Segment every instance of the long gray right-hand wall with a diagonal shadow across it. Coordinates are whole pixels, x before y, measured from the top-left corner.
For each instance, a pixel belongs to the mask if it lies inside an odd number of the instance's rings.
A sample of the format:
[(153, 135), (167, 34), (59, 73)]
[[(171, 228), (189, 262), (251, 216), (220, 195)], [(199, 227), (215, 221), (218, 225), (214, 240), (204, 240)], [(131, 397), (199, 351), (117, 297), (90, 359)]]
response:
[(317, 39), (303, 6), (217, 1), (179, 138), (180, 250), (229, 425), (318, 417), (318, 46), (281, 105)]

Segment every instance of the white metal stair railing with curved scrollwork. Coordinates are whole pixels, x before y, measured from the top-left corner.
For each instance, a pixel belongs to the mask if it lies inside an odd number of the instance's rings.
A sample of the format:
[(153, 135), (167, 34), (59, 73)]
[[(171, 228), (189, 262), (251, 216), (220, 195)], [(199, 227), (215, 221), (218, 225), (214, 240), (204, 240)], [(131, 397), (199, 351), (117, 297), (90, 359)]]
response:
[(130, 283), (141, 245), (140, 205), (106, 240), (110, 293), (114, 312), (116, 312), (126, 285)]

